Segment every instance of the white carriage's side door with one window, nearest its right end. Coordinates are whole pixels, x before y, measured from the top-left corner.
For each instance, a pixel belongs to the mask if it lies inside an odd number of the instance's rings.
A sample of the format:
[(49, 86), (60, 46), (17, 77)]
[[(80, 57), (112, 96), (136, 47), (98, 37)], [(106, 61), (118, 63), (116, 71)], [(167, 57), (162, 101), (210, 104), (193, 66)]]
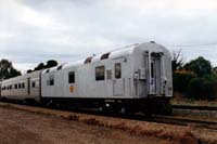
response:
[(123, 96), (124, 95), (124, 78), (122, 76), (123, 73), (123, 64), (120, 62), (114, 63), (114, 78), (113, 78), (113, 94), (114, 96)]

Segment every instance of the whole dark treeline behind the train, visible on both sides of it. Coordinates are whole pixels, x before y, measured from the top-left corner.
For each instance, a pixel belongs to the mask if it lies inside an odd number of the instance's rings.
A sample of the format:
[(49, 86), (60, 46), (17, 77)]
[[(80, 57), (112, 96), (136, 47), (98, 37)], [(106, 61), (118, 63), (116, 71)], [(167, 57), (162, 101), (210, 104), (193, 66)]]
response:
[[(56, 66), (55, 60), (49, 60), (46, 64), (40, 63), (27, 73)], [(173, 82), (174, 91), (188, 99), (215, 100), (217, 99), (217, 67), (213, 67), (208, 60), (199, 56), (184, 63), (181, 51), (173, 52)], [(9, 60), (0, 61), (0, 80), (21, 76)]]

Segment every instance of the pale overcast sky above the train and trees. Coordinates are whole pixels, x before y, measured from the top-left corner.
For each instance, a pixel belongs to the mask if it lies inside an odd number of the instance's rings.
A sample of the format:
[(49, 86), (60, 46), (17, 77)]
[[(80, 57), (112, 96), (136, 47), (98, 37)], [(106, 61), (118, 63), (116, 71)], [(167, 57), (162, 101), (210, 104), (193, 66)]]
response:
[(0, 0), (0, 58), (23, 73), (156, 41), (217, 65), (216, 0)]

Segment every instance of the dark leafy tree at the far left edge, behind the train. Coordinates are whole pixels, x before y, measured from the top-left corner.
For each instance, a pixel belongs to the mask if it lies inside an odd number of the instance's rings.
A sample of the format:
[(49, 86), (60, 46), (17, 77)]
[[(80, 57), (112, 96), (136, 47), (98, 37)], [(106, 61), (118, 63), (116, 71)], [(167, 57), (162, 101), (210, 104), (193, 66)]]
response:
[(1, 60), (0, 61), (0, 79), (9, 79), (16, 76), (21, 76), (21, 71), (16, 70), (12, 62), (9, 62), (8, 60)]

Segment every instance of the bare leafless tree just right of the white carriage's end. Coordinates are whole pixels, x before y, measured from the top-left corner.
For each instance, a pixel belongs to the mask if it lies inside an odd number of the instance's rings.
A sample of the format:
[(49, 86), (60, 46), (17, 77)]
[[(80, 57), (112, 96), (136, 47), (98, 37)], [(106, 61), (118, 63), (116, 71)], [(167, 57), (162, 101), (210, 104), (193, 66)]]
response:
[(173, 52), (171, 66), (173, 66), (173, 71), (176, 71), (182, 68), (183, 57), (181, 54), (181, 50)]

